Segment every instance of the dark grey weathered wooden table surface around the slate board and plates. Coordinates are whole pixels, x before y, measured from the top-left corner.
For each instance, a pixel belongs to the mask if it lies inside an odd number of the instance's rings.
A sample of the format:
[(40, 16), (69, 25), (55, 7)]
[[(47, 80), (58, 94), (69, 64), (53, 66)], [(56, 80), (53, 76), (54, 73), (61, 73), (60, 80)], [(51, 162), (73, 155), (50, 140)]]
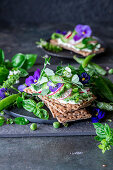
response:
[[(113, 68), (113, 25), (101, 23), (91, 24), (93, 32), (107, 44), (107, 51), (95, 57), (98, 64)], [(5, 51), (6, 58), (14, 54), (38, 53), (37, 63), (44, 55), (36, 48), (35, 42), (40, 38), (49, 38), (58, 28), (72, 28), (72, 25), (32, 25), (0, 28), (0, 48)], [(58, 65), (60, 58), (52, 58), (51, 63)], [(64, 59), (64, 64), (73, 64), (73, 60)], [(30, 70), (32, 71), (32, 69)], [(10, 133), (11, 127), (8, 131)], [(113, 149), (102, 154), (97, 148), (98, 142), (93, 136), (74, 137), (28, 137), (0, 138), (0, 169), (4, 170), (100, 170), (113, 169)], [(107, 165), (103, 167), (103, 165)]]

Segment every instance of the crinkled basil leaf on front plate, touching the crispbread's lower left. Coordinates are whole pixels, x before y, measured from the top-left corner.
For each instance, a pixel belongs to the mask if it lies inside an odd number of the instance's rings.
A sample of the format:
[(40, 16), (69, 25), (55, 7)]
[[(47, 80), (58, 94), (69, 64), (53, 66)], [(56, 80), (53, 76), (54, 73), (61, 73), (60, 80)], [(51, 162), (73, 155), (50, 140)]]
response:
[(40, 119), (46, 119), (48, 120), (49, 118), (49, 114), (45, 109), (37, 109), (36, 112), (34, 112), (34, 114), (39, 117)]

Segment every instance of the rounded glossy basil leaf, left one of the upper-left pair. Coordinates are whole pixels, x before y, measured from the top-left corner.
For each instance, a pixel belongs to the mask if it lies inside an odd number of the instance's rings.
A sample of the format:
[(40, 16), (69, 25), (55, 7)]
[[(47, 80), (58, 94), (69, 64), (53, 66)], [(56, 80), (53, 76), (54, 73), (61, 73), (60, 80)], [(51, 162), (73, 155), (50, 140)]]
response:
[(20, 68), (23, 66), (25, 60), (26, 56), (22, 53), (18, 53), (12, 58), (12, 66)]

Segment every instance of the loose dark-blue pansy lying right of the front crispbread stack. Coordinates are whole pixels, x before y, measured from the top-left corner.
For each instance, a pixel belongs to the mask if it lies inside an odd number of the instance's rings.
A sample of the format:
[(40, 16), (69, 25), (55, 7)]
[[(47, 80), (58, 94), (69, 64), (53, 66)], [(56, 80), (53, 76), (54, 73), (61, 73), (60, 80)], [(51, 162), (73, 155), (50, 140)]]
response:
[(91, 120), (93, 123), (97, 123), (99, 122), (99, 120), (101, 120), (105, 116), (105, 112), (103, 112), (102, 110), (98, 108), (94, 108), (93, 115), (94, 116), (92, 116)]

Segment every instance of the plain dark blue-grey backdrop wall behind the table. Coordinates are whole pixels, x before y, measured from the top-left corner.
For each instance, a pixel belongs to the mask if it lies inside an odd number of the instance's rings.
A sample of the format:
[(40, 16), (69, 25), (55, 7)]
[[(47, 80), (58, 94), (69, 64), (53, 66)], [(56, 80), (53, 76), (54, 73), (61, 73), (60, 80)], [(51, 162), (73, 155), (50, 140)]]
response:
[(2, 26), (103, 22), (113, 22), (112, 0), (0, 0)]

